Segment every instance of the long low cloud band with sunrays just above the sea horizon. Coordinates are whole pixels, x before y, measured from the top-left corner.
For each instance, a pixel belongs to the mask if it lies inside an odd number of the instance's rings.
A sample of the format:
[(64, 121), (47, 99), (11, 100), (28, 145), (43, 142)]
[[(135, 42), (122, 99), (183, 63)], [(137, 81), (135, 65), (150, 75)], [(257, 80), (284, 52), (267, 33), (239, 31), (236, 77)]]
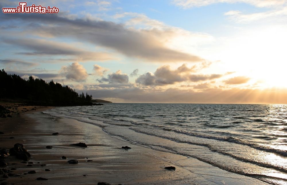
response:
[(125, 103), (287, 103), (286, 89), (207, 88), (97, 88), (87, 90), (97, 99), (120, 99)]

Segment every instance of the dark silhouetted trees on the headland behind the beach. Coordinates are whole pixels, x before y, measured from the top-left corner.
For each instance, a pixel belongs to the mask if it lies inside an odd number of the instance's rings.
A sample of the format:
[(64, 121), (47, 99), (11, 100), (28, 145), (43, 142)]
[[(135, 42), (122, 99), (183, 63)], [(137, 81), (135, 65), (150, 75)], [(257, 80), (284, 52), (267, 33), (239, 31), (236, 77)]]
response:
[(23, 99), (27, 104), (40, 106), (82, 106), (93, 105), (92, 95), (78, 94), (75, 89), (42, 79), (24, 80), (19, 75), (0, 70), (0, 98)]

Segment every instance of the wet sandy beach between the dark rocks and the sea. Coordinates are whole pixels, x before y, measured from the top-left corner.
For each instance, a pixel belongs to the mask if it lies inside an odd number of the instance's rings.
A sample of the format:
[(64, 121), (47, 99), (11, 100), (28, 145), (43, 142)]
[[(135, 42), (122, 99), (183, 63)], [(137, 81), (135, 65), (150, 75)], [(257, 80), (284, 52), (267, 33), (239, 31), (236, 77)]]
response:
[[(135, 145), (116, 136), (111, 137), (100, 127), (89, 123), (66, 118), (47, 119), (40, 112), (49, 108), (51, 107), (5, 118), (7, 121), (4, 121), (3, 129), (1, 128), (4, 134), (0, 135), (1, 148), (9, 149), (15, 143), (22, 143), (32, 155), (29, 162), (34, 164), (27, 167), (20, 163), (22, 160), (9, 156), (5, 159), (9, 164), (4, 168), (17, 170), (12, 172), (14, 176), (7, 179), (1, 177), (1, 183), (267, 184), (255, 178), (220, 170), (194, 158)], [(59, 135), (52, 135), (55, 132), (59, 132)], [(79, 142), (86, 143), (88, 147), (69, 145)], [(52, 145), (53, 148), (46, 149), (47, 145)], [(131, 149), (121, 148), (126, 145)], [(61, 156), (66, 156), (67, 159), (61, 159)], [(70, 159), (79, 160), (79, 164), (68, 164)], [(193, 166), (185, 166), (187, 160)], [(176, 170), (165, 170), (166, 166), (175, 166)], [(45, 169), (51, 171), (46, 172)], [(35, 170), (36, 174), (24, 175), (31, 170)], [(35, 180), (38, 177), (48, 180), (39, 182)]]

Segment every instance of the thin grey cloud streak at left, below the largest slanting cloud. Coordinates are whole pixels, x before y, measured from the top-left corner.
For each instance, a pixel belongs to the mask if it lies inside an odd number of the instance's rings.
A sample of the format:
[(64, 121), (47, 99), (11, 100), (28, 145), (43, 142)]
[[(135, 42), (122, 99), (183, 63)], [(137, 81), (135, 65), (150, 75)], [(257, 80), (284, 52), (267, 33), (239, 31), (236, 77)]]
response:
[(106, 52), (91, 52), (75, 48), (71, 44), (49, 41), (44, 39), (2, 39), (6, 44), (21, 47), (27, 52), (17, 54), (23, 55), (63, 55), (74, 56), (75, 60), (110, 60), (113, 57)]

